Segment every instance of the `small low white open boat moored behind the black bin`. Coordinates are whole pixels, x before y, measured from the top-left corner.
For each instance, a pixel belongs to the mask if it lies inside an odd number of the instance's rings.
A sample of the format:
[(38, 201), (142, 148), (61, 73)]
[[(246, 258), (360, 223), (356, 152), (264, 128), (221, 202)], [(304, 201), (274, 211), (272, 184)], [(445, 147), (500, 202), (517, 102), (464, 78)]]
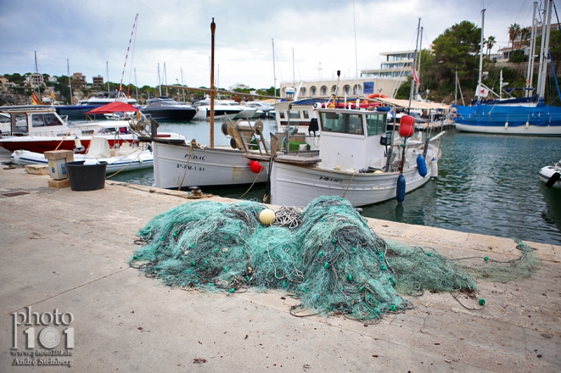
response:
[[(75, 154), (74, 160), (83, 160), (86, 165), (107, 162), (106, 174), (149, 169), (154, 165), (154, 157), (151, 150), (128, 144), (120, 148), (111, 149), (109, 148), (109, 142), (103, 137), (94, 137), (86, 154)], [(27, 150), (15, 150), (11, 155), (11, 162), (21, 166), (27, 164), (48, 164), (44, 154)]]

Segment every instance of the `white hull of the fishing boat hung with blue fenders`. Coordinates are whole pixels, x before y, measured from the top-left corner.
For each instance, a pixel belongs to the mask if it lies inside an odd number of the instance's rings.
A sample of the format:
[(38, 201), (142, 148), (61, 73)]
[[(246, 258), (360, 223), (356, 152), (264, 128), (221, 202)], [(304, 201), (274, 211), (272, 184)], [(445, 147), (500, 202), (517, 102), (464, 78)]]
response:
[[(271, 170), (271, 203), (306, 206), (322, 195), (344, 195), (353, 206), (374, 204), (396, 197), (399, 176), (399, 172), (353, 176), (349, 172), (274, 162)], [(405, 191), (410, 192), (431, 180), (431, 164), (428, 163), (424, 178), (417, 172), (417, 167), (406, 169), (403, 176)]]

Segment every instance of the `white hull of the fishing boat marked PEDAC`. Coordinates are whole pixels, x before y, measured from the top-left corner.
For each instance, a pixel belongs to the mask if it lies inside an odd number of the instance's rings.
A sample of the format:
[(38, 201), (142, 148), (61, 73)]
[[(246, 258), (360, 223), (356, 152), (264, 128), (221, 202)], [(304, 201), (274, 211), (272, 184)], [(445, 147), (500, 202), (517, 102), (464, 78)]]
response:
[[(179, 186), (233, 186), (264, 183), (269, 164), (259, 177), (250, 170), (250, 160), (243, 152), (231, 148), (198, 148), (191, 145), (152, 143), (154, 151), (154, 186), (178, 188)], [(257, 180), (256, 180), (257, 179)]]

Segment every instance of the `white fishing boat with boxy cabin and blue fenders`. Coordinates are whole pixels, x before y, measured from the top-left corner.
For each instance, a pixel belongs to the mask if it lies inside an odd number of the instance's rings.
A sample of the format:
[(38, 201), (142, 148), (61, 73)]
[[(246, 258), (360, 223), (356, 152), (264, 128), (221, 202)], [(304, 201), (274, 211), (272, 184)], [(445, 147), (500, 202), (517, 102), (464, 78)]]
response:
[[(318, 113), (318, 152), (273, 155), (272, 204), (306, 206), (321, 195), (344, 197), (353, 206), (403, 201), (406, 192), (438, 175), (438, 139), (444, 132), (407, 141), (386, 131), (387, 111), (321, 108)], [(401, 126), (405, 130), (403, 119)]]

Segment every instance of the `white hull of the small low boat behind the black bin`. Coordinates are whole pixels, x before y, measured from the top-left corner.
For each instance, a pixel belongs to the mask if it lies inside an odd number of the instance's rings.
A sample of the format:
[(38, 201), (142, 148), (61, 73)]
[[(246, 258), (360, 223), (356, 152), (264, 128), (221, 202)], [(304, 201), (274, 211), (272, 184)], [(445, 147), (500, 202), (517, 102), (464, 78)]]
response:
[[(107, 162), (106, 174), (117, 171), (135, 171), (149, 169), (154, 165), (154, 157), (149, 150), (133, 153), (128, 156), (86, 158), (84, 155), (74, 155), (74, 161), (85, 161), (84, 164), (98, 164)], [(27, 150), (16, 150), (11, 155), (11, 161), (15, 164), (25, 166), (27, 164), (48, 164), (44, 154), (29, 152)]]

